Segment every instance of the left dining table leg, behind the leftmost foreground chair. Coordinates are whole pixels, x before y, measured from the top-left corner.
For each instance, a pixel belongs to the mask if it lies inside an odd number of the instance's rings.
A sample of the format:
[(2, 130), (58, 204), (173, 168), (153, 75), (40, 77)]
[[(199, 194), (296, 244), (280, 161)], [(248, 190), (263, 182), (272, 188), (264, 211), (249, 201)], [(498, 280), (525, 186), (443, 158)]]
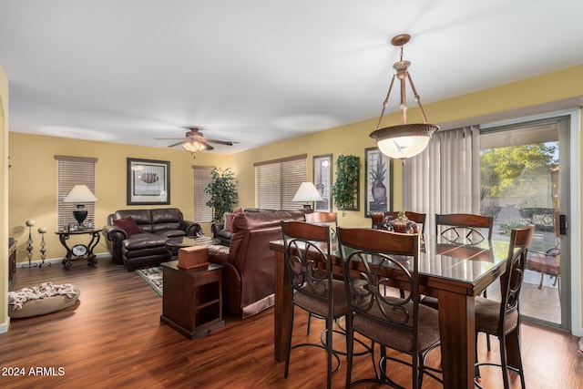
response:
[(283, 252), (275, 251), (275, 315), (273, 333), (273, 357), (277, 362), (285, 361), (290, 330), (292, 290), (290, 276)]

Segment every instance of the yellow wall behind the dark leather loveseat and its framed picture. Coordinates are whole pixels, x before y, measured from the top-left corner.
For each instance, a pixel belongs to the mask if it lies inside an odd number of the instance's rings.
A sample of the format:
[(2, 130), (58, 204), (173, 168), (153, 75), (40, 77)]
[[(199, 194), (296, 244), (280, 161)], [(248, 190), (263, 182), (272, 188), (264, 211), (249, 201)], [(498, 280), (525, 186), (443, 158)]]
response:
[[(160, 208), (176, 207), (186, 220), (193, 219), (192, 166), (225, 167), (229, 156), (199, 154), (196, 159), (180, 149), (146, 148), (105, 142), (91, 142), (67, 138), (33, 136), (10, 133), (12, 168), (9, 178), (10, 219), (9, 235), (18, 240), (17, 261), (27, 261), (25, 221), (35, 220), (33, 227), (33, 261), (40, 259), (41, 236), (38, 227), (46, 227), (46, 258), (66, 254), (54, 231), (56, 226), (56, 155), (96, 158), (96, 225), (102, 227), (107, 215), (115, 210), (154, 208), (156, 206), (126, 205), (126, 158), (159, 159), (170, 161), (170, 201)], [(210, 233), (210, 224), (203, 229)], [(88, 242), (88, 236), (71, 237), (74, 242)], [(105, 241), (100, 241), (96, 252), (106, 252)]]

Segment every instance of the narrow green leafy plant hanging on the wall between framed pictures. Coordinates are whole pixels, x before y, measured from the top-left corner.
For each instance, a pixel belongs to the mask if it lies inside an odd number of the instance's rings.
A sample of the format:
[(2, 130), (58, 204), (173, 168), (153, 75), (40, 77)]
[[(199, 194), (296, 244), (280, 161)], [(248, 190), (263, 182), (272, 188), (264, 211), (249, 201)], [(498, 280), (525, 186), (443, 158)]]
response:
[(332, 186), (332, 197), (336, 208), (343, 211), (359, 210), (359, 173), (361, 161), (353, 155), (338, 156), (336, 160), (336, 182)]

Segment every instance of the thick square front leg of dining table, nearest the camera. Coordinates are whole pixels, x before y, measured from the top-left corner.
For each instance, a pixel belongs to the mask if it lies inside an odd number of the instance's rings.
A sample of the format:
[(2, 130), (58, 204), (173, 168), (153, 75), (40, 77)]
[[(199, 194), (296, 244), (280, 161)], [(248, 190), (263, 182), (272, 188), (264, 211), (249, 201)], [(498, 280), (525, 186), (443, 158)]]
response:
[(439, 333), (445, 388), (474, 388), (475, 301), (472, 296), (439, 291)]

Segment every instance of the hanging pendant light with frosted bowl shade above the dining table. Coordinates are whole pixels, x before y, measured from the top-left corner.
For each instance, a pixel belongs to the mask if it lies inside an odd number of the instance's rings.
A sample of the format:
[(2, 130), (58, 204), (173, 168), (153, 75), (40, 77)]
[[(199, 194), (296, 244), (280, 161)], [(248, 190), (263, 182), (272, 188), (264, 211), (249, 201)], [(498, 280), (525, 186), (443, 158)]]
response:
[[(393, 78), (391, 78), (391, 84), (389, 85), (389, 90), (384, 98), (383, 109), (376, 130), (370, 134), (370, 137), (376, 141), (379, 150), (381, 150), (385, 156), (394, 159), (407, 159), (421, 153), (429, 144), (429, 139), (433, 136), (435, 131), (439, 129), (438, 126), (427, 123), (427, 118), (425, 117), (423, 106), (421, 105), (421, 99), (414, 87), (411, 74), (407, 70), (411, 65), (411, 62), (403, 60), (403, 46), (409, 42), (410, 39), (411, 36), (408, 34), (394, 36), (394, 38), (391, 39), (391, 44), (393, 46), (399, 46), (401, 48), (401, 58), (393, 65), (396, 73), (393, 75)], [(382, 128), (381, 125), (384, 118), (384, 110), (388, 106), (395, 78), (399, 79), (401, 84), (401, 104), (399, 106), (401, 109), (401, 124)], [(423, 118), (423, 123), (407, 124), (407, 103), (405, 94), (406, 80), (409, 81), (409, 85), (413, 90), (414, 99), (419, 108), (421, 118)]]

